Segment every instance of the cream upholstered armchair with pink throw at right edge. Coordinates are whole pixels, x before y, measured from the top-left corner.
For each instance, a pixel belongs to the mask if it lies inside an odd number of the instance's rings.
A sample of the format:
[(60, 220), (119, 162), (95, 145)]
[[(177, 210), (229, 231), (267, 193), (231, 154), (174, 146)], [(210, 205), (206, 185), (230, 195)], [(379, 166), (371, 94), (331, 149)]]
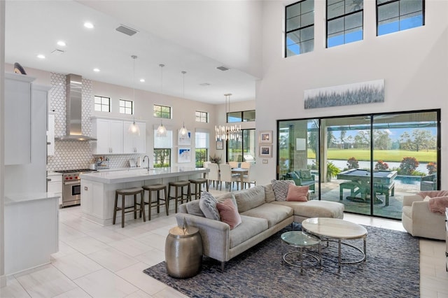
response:
[(412, 236), (444, 240), (445, 217), (431, 212), (428, 204), (418, 194), (403, 197), (403, 227)]

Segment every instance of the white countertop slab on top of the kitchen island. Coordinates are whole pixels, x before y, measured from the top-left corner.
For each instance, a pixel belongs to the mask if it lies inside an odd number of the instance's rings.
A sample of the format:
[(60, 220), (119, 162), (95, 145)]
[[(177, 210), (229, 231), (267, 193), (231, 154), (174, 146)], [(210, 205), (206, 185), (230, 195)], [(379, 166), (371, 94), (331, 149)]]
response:
[(82, 173), (80, 178), (81, 182), (85, 179), (100, 183), (113, 184), (176, 176), (188, 176), (199, 173), (207, 173), (208, 171), (210, 170), (206, 168), (192, 168), (186, 166), (172, 166), (169, 168), (150, 169), (149, 171), (146, 168), (129, 168), (127, 170), (120, 171)]

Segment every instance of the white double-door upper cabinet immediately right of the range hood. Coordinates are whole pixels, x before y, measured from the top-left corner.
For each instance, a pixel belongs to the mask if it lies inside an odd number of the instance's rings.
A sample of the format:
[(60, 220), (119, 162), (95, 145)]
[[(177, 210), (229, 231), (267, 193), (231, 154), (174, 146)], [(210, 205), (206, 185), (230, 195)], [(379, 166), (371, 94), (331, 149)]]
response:
[(123, 120), (92, 119), (93, 154), (123, 154)]

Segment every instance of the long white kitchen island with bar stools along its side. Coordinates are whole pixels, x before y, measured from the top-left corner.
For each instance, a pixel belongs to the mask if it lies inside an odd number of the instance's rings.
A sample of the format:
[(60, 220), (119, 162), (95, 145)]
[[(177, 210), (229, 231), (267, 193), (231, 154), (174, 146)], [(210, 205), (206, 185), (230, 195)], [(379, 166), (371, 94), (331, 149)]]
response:
[[(83, 173), (81, 178), (81, 210), (83, 216), (97, 222), (99, 225), (111, 225), (113, 219), (113, 204), (116, 190), (143, 185), (162, 183), (168, 185), (171, 181), (188, 180), (202, 177), (209, 169), (172, 166), (158, 169), (129, 169), (121, 171), (105, 171)], [(126, 198), (127, 205), (132, 197)], [(127, 214), (130, 218), (132, 213)], [(117, 221), (120, 222), (117, 214)]]

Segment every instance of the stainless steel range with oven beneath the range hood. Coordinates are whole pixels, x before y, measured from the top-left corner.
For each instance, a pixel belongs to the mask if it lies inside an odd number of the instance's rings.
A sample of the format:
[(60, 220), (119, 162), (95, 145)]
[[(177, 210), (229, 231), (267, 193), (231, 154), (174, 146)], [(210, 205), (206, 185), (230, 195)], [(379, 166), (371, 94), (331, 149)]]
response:
[(81, 202), (80, 174), (92, 172), (92, 169), (57, 171), (62, 173), (62, 207), (78, 205)]

